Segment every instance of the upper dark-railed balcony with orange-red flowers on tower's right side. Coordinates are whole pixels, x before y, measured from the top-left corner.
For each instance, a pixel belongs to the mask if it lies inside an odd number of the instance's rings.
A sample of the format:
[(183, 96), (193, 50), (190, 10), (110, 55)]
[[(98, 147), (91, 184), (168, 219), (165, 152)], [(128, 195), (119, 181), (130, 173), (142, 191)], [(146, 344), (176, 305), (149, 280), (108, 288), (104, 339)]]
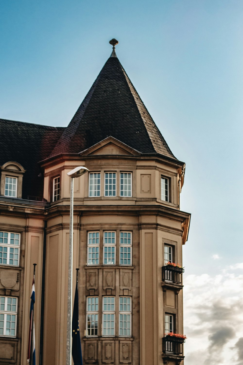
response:
[(182, 274), (184, 268), (180, 268), (172, 265), (162, 266), (162, 281), (161, 287), (163, 290), (175, 289), (177, 294), (183, 288)]

